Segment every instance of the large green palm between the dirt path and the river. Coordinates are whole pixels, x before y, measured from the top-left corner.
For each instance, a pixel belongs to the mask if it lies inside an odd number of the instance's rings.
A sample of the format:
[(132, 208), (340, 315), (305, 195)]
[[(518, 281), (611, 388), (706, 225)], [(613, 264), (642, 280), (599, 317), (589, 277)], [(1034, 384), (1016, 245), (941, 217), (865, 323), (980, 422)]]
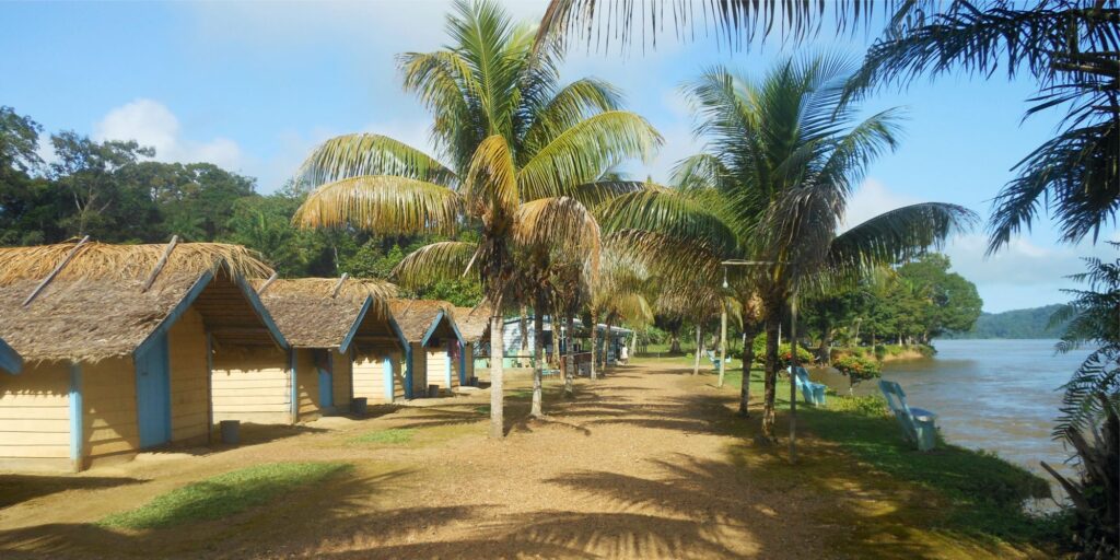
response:
[(669, 259), (666, 274), (715, 282), (722, 261), (754, 264), (729, 286), (740, 302), (760, 302), (766, 438), (773, 438), (778, 325), (799, 287), (906, 259), (974, 220), (960, 206), (927, 203), (839, 233), (849, 196), (871, 161), (894, 148), (897, 130), (895, 110), (856, 121), (855, 109), (841, 104), (849, 75), (842, 58), (828, 56), (782, 62), (758, 82), (724, 68), (706, 72), (687, 93), (707, 149), (681, 162), (679, 188), (648, 188), (596, 209), (642, 254)]

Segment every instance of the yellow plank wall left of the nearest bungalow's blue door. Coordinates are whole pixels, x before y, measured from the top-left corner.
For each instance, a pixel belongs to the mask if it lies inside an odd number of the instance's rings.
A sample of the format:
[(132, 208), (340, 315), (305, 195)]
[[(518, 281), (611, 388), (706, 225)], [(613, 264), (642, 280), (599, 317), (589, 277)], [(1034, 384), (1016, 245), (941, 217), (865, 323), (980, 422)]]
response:
[(137, 373), (131, 357), (82, 364), (82, 404), (87, 458), (136, 452), (140, 448)]

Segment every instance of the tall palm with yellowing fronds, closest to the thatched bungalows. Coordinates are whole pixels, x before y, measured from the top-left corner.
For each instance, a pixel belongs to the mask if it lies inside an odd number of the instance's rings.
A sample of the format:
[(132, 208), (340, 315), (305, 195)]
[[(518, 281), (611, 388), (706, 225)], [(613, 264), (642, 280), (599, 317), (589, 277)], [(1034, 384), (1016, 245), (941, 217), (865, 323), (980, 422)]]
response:
[[(450, 46), (399, 58), (405, 88), (435, 115), (439, 158), (377, 134), (328, 140), (300, 171), (318, 188), (295, 220), (386, 234), (477, 228), (477, 243), (423, 246), (395, 277), (417, 284), (475, 274), (492, 305), (491, 332), (501, 333), (517, 244), (579, 239), (563, 225), (582, 220), (564, 213), (586, 208), (545, 199), (573, 195), (578, 203), (625, 189), (596, 179), (620, 161), (647, 157), (661, 138), (641, 116), (618, 110), (610, 85), (590, 78), (561, 85), (559, 54), (534, 50), (533, 30), (494, 2), (456, 2), (447, 30)], [(504, 436), (502, 351), (502, 338), (492, 336), (495, 438)]]

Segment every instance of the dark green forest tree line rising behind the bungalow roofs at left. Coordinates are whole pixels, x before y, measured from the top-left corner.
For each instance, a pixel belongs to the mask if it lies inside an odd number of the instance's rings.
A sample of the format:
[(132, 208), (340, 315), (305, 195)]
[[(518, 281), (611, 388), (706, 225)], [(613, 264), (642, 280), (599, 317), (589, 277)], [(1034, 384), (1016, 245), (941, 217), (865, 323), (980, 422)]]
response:
[[(40, 148), (53, 157), (44, 160)], [(388, 278), (404, 255), (436, 235), (376, 235), (292, 225), (307, 189), (288, 183), (256, 192), (256, 179), (206, 162), (153, 161), (136, 141), (44, 134), (30, 115), (0, 106), (0, 245), (58, 243), (90, 235), (105, 243), (237, 243), (259, 251), (283, 277)], [(468, 237), (470, 232), (460, 236)], [(472, 306), (475, 282), (445, 280), (405, 290)]]

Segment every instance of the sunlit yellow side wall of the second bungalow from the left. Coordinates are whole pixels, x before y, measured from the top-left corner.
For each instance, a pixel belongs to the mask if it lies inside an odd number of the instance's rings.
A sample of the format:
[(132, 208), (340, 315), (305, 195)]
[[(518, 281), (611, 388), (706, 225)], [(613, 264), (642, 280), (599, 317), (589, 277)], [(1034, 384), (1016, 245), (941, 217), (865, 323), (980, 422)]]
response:
[(214, 421), (290, 423), (291, 375), (288, 353), (259, 347), (218, 351), (211, 379)]

